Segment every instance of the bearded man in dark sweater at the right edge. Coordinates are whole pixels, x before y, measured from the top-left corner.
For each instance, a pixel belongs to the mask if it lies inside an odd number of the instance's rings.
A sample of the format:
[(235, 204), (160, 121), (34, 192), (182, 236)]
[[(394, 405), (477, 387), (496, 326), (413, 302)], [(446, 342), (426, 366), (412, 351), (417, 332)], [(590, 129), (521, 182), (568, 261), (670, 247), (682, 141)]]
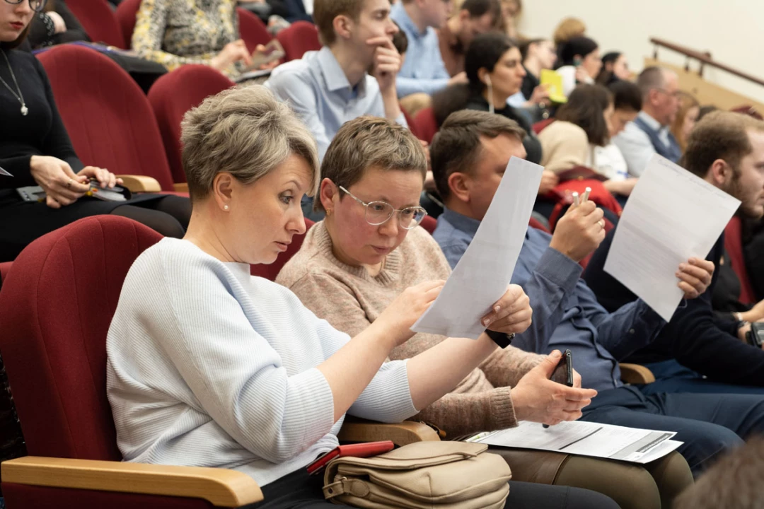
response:
[[(708, 114), (690, 134), (682, 163), (693, 175), (687, 179), (704, 179), (720, 192), (739, 200), (738, 214), (751, 218), (764, 215), (764, 122), (727, 111)], [(664, 168), (659, 169), (659, 175), (665, 173)], [(672, 201), (677, 202), (692, 189), (691, 185), (688, 180), (684, 188), (669, 190), (676, 195)], [(687, 195), (691, 200), (698, 199), (697, 192)], [(669, 204), (655, 204), (656, 207), (665, 205)], [(681, 208), (693, 216), (702, 214), (702, 211), (691, 210), (693, 207), (707, 208), (714, 216), (721, 214), (708, 200)], [(701, 221), (699, 227), (707, 229), (707, 221), (701, 217), (698, 221)], [(613, 230), (594, 253), (585, 275), (588, 285), (608, 310), (636, 299), (629, 288), (604, 270), (617, 230)], [(718, 237), (707, 259), (718, 265), (723, 253), (724, 235)], [(631, 362), (646, 364), (656, 375), (656, 382), (646, 385), (643, 392), (764, 394), (764, 351), (747, 343), (750, 324), (714, 317), (711, 294), (716, 280), (714, 274), (708, 292), (688, 301), (685, 308), (677, 309), (656, 341), (630, 357)]]

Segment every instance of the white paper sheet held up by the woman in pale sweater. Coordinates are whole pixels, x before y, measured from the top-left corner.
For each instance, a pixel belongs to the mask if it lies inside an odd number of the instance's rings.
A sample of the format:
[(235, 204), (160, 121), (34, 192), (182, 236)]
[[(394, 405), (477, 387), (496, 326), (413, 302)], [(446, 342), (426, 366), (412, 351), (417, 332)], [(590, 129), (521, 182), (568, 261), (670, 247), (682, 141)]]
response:
[(507, 292), (523, 247), (542, 166), (513, 157), (467, 251), (432, 306), (411, 327), (448, 337), (483, 333), (481, 318)]

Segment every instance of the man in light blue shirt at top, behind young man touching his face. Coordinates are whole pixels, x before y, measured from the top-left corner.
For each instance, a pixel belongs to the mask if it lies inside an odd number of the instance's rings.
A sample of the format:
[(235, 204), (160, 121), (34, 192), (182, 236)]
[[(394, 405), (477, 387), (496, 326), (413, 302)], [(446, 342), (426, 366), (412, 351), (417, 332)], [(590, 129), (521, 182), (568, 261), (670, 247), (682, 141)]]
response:
[(448, 85), (467, 82), (464, 72), (448, 76), (435, 32), (448, 21), (451, 8), (452, 0), (399, 0), (393, 5), (390, 17), (409, 39), (406, 61), (398, 72), (398, 97), (432, 95)]

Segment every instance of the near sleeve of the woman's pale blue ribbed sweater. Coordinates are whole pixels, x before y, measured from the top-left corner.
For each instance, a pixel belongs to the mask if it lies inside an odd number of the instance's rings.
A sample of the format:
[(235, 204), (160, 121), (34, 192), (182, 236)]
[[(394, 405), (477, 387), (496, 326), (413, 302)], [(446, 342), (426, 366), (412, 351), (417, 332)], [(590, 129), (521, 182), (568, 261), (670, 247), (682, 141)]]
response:
[[(241, 446), (274, 463), (308, 449), (334, 424), (329, 382), (316, 368), (290, 376), (223, 276), (205, 259), (184, 261), (162, 259), (156, 288), (167, 290), (147, 296), (136, 320), (151, 322), (147, 329), (204, 411)], [(284, 312), (304, 321), (299, 311)]]

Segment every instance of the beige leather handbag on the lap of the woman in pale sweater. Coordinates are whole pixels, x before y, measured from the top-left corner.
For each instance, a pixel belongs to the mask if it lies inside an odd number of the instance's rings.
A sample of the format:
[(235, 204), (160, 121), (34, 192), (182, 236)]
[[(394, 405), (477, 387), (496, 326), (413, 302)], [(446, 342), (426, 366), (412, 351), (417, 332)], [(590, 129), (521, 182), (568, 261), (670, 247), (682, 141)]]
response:
[(373, 458), (332, 459), (324, 496), (362, 509), (500, 509), (512, 472), (488, 446), (468, 442), (416, 442)]

